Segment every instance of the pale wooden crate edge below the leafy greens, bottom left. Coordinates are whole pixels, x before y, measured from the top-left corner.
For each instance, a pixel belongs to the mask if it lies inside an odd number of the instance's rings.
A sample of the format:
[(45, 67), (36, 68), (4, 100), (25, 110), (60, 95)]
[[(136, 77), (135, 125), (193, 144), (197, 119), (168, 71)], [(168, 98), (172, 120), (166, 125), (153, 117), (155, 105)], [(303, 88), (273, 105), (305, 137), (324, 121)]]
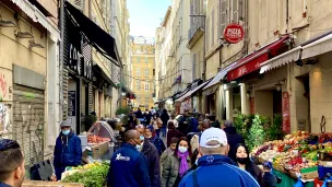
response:
[(79, 183), (24, 180), (22, 187), (84, 187), (84, 185)]

